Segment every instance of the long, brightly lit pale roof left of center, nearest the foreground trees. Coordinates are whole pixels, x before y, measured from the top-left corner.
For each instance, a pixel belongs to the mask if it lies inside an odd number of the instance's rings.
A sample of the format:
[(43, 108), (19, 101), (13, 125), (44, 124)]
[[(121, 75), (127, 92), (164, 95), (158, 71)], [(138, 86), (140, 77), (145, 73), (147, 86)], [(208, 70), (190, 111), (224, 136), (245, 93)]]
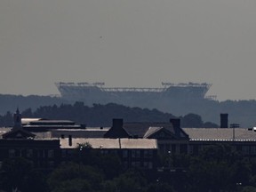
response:
[(156, 149), (156, 140), (148, 139), (72, 139), (72, 145), (68, 145), (68, 139), (60, 139), (60, 148), (77, 148), (78, 144), (90, 143), (92, 148), (129, 148), (129, 149)]

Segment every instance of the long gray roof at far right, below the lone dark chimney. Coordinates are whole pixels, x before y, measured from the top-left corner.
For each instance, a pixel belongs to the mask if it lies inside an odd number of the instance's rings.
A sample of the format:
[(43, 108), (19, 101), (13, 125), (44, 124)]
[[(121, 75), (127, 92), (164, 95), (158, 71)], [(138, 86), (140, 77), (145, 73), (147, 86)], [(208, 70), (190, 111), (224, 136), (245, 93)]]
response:
[[(182, 128), (190, 140), (256, 141), (256, 132), (247, 128)], [(234, 131), (234, 132), (233, 132)]]

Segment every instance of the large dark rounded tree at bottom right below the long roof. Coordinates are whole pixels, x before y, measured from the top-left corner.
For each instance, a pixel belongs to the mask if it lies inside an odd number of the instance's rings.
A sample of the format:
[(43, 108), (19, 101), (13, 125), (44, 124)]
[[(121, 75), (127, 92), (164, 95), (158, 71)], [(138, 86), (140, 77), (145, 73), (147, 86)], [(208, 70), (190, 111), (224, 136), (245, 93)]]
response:
[(249, 175), (242, 156), (228, 145), (216, 145), (191, 158), (188, 178), (193, 191), (236, 191), (236, 183), (245, 184)]

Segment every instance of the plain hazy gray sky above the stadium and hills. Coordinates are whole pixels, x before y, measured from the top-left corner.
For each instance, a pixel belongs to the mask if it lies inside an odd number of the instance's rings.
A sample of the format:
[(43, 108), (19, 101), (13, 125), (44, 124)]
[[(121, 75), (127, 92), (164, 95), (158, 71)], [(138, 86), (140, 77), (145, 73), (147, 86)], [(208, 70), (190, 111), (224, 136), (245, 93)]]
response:
[(0, 93), (211, 83), (256, 99), (255, 0), (1, 0)]

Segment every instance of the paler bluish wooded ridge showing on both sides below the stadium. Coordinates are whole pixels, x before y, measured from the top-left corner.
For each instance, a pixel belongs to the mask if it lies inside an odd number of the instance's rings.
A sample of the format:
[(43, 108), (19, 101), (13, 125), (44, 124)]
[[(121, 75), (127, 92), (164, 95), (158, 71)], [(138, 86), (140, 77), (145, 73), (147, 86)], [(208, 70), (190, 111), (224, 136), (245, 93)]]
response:
[[(39, 95), (9, 95), (0, 94), (0, 115), (4, 116), (7, 111), (14, 111), (17, 107), (20, 110), (31, 108), (36, 110), (40, 106), (52, 106), (61, 104), (74, 104), (57, 96)], [(90, 106), (92, 107), (92, 106)], [(147, 108), (154, 107), (148, 104)], [(228, 113), (230, 124), (240, 124), (241, 127), (252, 127), (255, 125), (256, 100), (169, 100), (166, 105), (157, 108), (160, 111), (172, 113), (175, 116), (186, 114), (197, 114), (205, 121), (215, 124), (220, 122), (220, 113)]]

